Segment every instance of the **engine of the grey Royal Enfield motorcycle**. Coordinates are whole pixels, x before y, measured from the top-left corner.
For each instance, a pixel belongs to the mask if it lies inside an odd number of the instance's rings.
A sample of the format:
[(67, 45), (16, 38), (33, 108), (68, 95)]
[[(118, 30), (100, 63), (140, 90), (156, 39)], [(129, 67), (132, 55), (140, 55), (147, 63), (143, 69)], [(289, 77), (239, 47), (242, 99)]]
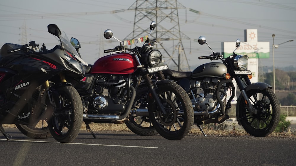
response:
[(205, 78), (201, 82), (197, 81), (196, 86), (198, 88), (202, 88), (203, 93), (196, 95), (196, 102), (192, 101), (192, 103), (195, 103), (194, 110), (195, 111), (205, 111), (208, 109), (208, 111), (213, 111), (216, 107), (217, 99), (216, 99), (216, 90), (219, 83), (218, 78)]

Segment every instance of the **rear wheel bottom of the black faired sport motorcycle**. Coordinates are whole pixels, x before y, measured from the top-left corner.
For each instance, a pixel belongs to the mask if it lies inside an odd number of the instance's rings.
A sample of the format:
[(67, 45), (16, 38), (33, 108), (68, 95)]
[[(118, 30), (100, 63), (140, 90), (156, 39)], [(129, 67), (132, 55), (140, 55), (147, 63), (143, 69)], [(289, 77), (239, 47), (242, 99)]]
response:
[(45, 120), (39, 121), (36, 126), (27, 126), (24, 124), (15, 124), (17, 129), (25, 134), (27, 137), (33, 139), (46, 139), (52, 137), (52, 134), (49, 132), (47, 122)]

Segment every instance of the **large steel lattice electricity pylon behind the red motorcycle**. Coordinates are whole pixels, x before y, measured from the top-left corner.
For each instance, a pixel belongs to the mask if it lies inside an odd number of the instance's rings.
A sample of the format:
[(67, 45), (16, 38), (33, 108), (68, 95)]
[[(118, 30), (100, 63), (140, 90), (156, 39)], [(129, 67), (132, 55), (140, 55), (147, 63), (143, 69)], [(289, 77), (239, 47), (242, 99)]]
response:
[(137, 0), (128, 8), (135, 10), (133, 32), (124, 40), (148, 35), (149, 24), (155, 21), (157, 26), (150, 38), (164, 43), (155, 47), (163, 50), (161, 52), (165, 63), (174, 70), (191, 71), (182, 43), (182, 39), (190, 38), (180, 31), (178, 9), (185, 9), (185, 6), (177, 0)]

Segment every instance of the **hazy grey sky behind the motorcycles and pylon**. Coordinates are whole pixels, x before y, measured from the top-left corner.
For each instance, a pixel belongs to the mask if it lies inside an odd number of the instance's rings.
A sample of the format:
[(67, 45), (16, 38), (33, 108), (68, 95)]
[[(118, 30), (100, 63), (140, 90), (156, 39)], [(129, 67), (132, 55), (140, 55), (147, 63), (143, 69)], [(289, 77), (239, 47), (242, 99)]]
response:
[[(119, 42), (104, 39), (106, 29), (114, 37), (123, 40), (133, 31), (135, 10), (128, 10), (136, 0), (9, 0), (0, 4), (0, 46), (4, 43), (28, 44), (35, 41), (47, 49), (58, 44), (57, 39), (47, 31), (48, 24), (57, 24), (67, 36), (81, 42), (80, 53), (86, 62), (93, 64), (105, 56), (105, 49), (114, 48)], [(140, 2), (140, 1), (139, 1)], [(258, 42), (270, 42), (270, 57), (259, 59), (261, 67), (273, 65), (272, 43), (275, 67), (293, 65), (296, 67), (296, 1), (295, 0), (179, 0), (178, 19), (180, 31), (189, 39), (182, 40), (190, 70), (206, 63), (198, 56), (210, 55), (206, 45), (195, 40), (200, 36), (214, 52), (221, 51), (221, 42), (244, 41), (244, 29), (258, 29)], [(199, 13), (192, 12), (199, 11)], [(166, 24), (162, 22), (161, 24)], [(167, 24), (170, 24), (169, 22)], [(143, 29), (150, 22), (141, 22)], [(160, 26), (160, 25), (158, 25)], [(153, 32), (152, 32), (153, 34)], [(195, 40), (194, 40), (195, 39)], [(173, 52), (176, 43), (163, 42)], [(235, 49), (235, 46), (234, 46)], [(162, 50), (161, 50), (162, 51)], [(172, 53), (173, 54), (173, 53)], [(172, 56), (178, 61), (177, 56)], [(168, 61), (169, 67), (174, 64)]]

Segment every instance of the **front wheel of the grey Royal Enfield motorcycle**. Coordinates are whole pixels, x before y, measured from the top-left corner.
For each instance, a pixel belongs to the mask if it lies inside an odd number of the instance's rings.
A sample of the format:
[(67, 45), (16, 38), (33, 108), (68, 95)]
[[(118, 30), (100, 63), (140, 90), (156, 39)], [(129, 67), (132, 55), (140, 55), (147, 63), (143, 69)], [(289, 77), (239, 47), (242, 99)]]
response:
[(252, 89), (247, 96), (256, 109), (257, 114), (250, 114), (242, 97), (239, 100), (239, 119), (243, 128), (254, 137), (266, 137), (271, 134), (279, 123), (279, 101), (270, 88)]

